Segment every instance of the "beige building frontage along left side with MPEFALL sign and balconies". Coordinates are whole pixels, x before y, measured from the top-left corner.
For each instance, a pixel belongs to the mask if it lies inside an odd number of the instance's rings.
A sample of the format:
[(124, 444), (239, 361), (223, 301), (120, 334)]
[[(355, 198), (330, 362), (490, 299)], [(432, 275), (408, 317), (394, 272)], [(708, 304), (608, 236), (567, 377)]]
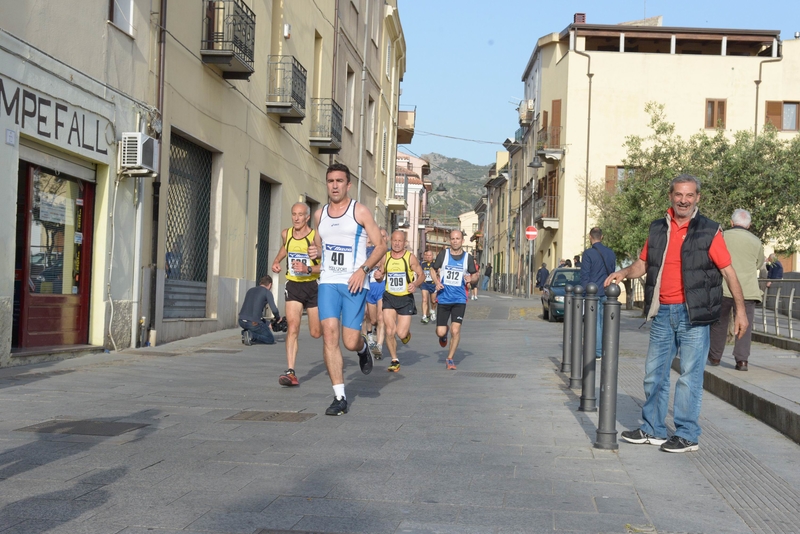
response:
[(0, 366), (234, 326), (332, 162), (385, 219), (396, 1), (75, 5), (0, 7)]

